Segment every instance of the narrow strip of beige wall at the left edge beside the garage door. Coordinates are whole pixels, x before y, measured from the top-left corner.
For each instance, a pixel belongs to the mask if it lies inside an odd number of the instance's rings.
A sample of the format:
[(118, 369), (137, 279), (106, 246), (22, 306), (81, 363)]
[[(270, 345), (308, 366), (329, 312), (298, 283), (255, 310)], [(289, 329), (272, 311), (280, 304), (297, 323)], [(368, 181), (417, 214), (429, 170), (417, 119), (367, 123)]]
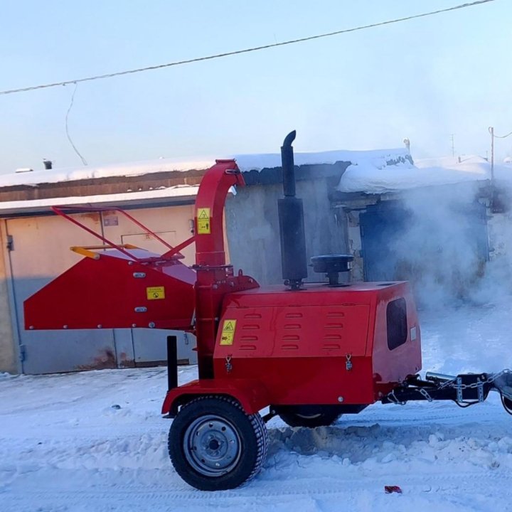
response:
[[(6, 245), (5, 231), (0, 230), (0, 243)], [(8, 267), (4, 251), (0, 250), (0, 372), (18, 373), (16, 343), (11, 321), (11, 306), (9, 305)]]

